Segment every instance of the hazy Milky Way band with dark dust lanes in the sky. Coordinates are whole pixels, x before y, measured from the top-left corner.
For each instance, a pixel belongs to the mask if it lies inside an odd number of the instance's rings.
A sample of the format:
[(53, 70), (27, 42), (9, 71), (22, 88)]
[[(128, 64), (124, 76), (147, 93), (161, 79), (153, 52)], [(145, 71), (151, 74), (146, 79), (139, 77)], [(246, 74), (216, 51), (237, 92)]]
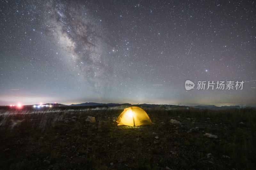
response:
[[(100, 81), (104, 81), (105, 74), (108, 73), (101, 61), (104, 55), (101, 46), (106, 46), (97, 34), (101, 30), (86, 16), (84, 8), (81, 9), (78, 5), (47, 3), (45, 12), (45, 29), (54, 36), (65, 52), (70, 70), (81, 75), (78, 76), (79, 80), (88, 80), (99, 90), (102, 87)], [(104, 83), (107, 84), (108, 81)]]

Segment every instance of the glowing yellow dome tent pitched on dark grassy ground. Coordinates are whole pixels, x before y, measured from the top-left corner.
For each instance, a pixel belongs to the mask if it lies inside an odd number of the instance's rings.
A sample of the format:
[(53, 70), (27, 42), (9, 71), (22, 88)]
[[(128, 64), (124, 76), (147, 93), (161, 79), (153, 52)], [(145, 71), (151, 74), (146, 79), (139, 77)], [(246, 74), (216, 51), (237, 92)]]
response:
[(116, 119), (117, 125), (126, 126), (140, 126), (152, 124), (148, 114), (139, 107), (129, 107), (124, 109), (124, 111)]

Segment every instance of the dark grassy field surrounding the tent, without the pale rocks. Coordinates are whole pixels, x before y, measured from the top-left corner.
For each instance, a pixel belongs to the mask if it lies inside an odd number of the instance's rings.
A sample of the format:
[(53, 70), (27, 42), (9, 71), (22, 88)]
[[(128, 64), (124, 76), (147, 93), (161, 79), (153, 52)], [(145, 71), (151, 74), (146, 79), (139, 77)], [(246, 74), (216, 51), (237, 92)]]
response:
[[(124, 108), (2, 108), (1, 169), (256, 168), (256, 111), (251, 108), (142, 107), (152, 125), (116, 126), (113, 120)], [(87, 116), (96, 122), (85, 122)], [(65, 123), (72, 117), (76, 121)], [(196, 126), (199, 131), (189, 132)]]

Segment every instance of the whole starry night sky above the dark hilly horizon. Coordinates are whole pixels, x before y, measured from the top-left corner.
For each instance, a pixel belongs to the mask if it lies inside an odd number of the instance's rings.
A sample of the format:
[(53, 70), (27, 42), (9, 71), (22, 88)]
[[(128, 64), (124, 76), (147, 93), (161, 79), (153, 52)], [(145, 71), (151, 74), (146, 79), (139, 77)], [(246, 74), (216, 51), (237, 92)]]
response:
[[(253, 1), (1, 1), (0, 105), (255, 106), (255, 9)], [(208, 81), (244, 84), (212, 90)]]

